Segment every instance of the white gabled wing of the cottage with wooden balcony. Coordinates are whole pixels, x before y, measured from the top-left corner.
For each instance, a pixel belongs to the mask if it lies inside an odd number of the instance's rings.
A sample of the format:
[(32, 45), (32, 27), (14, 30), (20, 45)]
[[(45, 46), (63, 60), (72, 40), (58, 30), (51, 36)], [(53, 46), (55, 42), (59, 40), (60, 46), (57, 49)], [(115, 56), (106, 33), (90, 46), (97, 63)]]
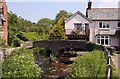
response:
[(92, 21), (77, 11), (65, 21), (65, 34), (69, 39), (89, 40), (89, 24)]

